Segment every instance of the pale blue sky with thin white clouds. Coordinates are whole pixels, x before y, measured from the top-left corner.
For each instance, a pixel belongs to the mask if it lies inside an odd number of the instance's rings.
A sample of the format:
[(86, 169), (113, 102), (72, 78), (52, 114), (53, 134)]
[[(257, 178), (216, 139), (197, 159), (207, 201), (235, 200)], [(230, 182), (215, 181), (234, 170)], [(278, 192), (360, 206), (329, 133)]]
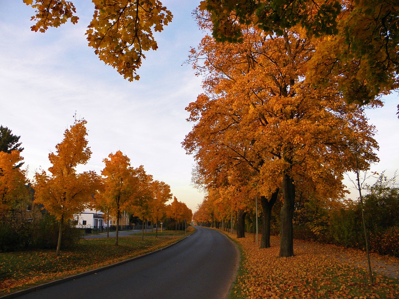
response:
[[(199, 0), (162, 1), (174, 18), (155, 34), (158, 50), (146, 52), (140, 81), (134, 82), (124, 80), (88, 47), (91, 1), (73, 3), (78, 24), (39, 33), (30, 30), (31, 7), (22, 0), (0, 1), (0, 124), (21, 136), (28, 177), (51, 166), (48, 154), (62, 141), (76, 112), (87, 120), (93, 152), (79, 170), (100, 173), (103, 159), (120, 150), (133, 167), (143, 165), (147, 174), (170, 185), (173, 195), (194, 212), (204, 195), (191, 183), (195, 161), (181, 142), (192, 128), (185, 107), (202, 92), (201, 78), (184, 63), (190, 47), (204, 35), (191, 15)], [(392, 177), (399, 168), (399, 96), (383, 100), (383, 108), (367, 110), (380, 146), (380, 162), (371, 171)]]

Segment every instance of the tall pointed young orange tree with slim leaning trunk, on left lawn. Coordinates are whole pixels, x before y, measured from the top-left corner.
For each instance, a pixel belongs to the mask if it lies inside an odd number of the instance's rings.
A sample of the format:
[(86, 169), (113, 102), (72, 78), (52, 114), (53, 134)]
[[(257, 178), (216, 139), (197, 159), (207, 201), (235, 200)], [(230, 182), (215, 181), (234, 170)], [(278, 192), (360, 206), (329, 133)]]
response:
[(66, 129), (64, 139), (55, 146), (56, 152), (49, 153), (52, 164), (47, 173), (35, 173), (35, 203), (42, 204), (49, 214), (59, 220), (59, 234), (56, 255), (61, 250), (64, 221), (67, 221), (86, 207), (91, 206), (97, 190), (98, 175), (94, 171), (77, 173), (76, 167), (85, 165), (91, 156), (87, 146), (86, 120), (75, 120)]

